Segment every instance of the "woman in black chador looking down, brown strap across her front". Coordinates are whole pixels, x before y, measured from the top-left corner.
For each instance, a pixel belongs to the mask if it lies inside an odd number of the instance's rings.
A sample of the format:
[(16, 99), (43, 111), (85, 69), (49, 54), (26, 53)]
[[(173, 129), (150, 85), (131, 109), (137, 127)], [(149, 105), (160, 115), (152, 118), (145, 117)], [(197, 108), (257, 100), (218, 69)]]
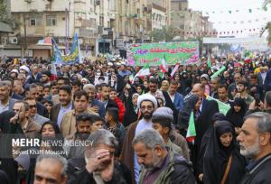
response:
[[(228, 164), (229, 172), (226, 173)], [(228, 121), (217, 122), (203, 158), (203, 183), (238, 184), (245, 174), (246, 165), (247, 161), (240, 155), (235, 143), (232, 124)], [(221, 182), (223, 178), (225, 182)]]

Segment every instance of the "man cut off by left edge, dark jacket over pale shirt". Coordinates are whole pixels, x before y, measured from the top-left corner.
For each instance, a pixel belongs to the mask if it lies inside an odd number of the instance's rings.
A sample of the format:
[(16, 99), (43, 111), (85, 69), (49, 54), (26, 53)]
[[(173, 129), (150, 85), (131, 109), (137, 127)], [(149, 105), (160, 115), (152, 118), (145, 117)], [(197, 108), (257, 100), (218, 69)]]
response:
[(9, 97), (10, 89), (5, 81), (0, 81), (0, 113), (6, 110), (13, 110), (15, 100)]

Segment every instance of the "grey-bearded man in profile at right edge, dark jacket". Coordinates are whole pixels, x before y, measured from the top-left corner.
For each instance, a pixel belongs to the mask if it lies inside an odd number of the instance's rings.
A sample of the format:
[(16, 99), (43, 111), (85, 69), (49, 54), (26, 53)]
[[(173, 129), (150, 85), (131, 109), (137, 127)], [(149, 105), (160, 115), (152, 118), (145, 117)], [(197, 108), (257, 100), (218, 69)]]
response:
[(240, 153), (251, 159), (241, 184), (271, 182), (271, 115), (253, 113), (245, 117), (238, 135)]

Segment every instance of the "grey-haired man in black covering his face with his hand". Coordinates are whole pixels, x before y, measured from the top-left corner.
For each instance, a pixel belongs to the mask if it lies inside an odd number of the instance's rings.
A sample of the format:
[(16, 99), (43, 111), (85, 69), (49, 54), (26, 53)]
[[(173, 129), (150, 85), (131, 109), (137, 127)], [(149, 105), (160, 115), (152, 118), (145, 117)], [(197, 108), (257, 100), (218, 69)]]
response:
[(125, 166), (114, 161), (117, 140), (112, 133), (100, 129), (91, 133), (90, 145), (85, 151), (86, 167), (69, 180), (69, 184), (132, 183), (131, 174)]

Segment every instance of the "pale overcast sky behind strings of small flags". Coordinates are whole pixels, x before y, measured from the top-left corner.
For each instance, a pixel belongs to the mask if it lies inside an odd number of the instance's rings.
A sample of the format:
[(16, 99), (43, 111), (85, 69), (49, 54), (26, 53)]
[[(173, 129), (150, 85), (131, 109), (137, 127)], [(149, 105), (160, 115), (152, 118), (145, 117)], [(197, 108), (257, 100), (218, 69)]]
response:
[[(249, 32), (249, 29), (264, 27), (268, 21), (271, 21), (271, 5), (267, 5), (267, 11), (264, 11), (261, 9), (263, 2), (264, 0), (189, 0), (189, 7), (192, 10), (202, 11), (203, 15), (209, 15), (210, 22), (214, 23), (214, 28), (218, 32), (242, 30), (243, 33), (234, 33), (234, 35), (245, 37), (259, 32)], [(252, 13), (249, 13), (248, 9), (251, 9)], [(240, 23), (241, 21), (244, 23)]]

